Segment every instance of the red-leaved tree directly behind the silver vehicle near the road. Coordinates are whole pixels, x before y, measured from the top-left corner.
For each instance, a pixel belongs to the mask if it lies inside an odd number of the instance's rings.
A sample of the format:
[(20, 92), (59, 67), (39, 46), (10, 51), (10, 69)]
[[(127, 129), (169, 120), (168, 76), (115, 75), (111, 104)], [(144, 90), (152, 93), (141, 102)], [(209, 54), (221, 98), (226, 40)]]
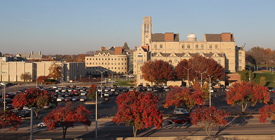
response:
[(192, 112), (195, 105), (203, 104), (208, 97), (207, 92), (203, 92), (203, 89), (197, 85), (192, 88), (175, 88), (170, 90), (166, 96), (166, 101), (163, 104), (165, 108), (171, 105), (177, 107), (184, 107), (188, 112)]

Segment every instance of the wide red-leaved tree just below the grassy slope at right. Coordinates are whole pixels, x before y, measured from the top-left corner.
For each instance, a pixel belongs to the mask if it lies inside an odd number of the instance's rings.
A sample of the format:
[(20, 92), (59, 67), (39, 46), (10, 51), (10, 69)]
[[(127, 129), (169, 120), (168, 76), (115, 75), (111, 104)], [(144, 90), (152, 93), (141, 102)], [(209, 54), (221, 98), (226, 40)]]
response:
[(254, 106), (258, 102), (264, 102), (267, 104), (269, 100), (270, 95), (267, 87), (247, 82), (233, 84), (226, 93), (227, 104), (231, 106), (241, 105), (243, 113), (245, 112), (248, 103), (250, 103), (251, 106)]

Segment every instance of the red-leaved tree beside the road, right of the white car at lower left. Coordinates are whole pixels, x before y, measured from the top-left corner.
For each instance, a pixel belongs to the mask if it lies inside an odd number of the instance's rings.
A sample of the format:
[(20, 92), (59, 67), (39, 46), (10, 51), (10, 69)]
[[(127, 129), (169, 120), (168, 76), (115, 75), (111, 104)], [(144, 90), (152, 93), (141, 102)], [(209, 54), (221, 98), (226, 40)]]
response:
[(61, 125), (63, 129), (63, 139), (65, 139), (68, 127), (74, 127), (75, 123), (83, 124), (86, 128), (91, 125), (91, 121), (88, 116), (91, 113), (83, 106), (72, 106), (71, 103), (67, 103), (65, 107), (57, 107), (52, 112), (49, 112), (43, 118), (43, 122), (47, 125), (48, 130), (55, 132), (55, 126)]

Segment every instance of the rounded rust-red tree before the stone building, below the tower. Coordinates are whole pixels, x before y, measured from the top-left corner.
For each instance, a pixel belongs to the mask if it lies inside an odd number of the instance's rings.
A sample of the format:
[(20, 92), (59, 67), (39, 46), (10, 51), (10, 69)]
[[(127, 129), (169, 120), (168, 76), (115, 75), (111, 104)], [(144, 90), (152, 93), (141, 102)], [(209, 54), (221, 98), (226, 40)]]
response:
[(142, 66), (142, 76), (146, 81), (156, 84), (165, 83), (173, 79), (173, 66), (164, 60), (145, 62)]

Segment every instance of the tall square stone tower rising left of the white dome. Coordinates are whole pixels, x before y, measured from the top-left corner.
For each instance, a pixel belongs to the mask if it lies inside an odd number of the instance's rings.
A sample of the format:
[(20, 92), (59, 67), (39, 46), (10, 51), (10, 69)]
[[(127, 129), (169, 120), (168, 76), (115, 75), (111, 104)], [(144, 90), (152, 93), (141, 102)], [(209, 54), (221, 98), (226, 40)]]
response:
[(142, 45), (151, 47), (152, 41), (152, 23), (151, 17), (143, 17), (142, 20)]

